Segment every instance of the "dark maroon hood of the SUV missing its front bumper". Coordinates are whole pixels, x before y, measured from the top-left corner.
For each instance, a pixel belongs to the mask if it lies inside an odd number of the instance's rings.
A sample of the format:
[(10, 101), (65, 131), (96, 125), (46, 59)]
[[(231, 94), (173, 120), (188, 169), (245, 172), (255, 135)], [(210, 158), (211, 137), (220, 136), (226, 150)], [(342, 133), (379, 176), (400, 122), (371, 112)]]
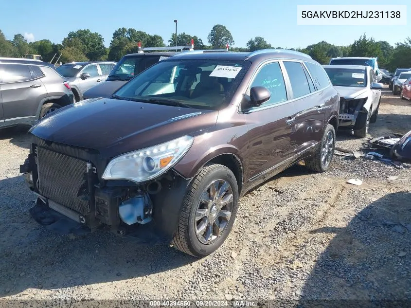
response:
[(215, 126), (217, 115), (213, 110), (98, 98), (60, 108), (30, 132), (113, 157)]

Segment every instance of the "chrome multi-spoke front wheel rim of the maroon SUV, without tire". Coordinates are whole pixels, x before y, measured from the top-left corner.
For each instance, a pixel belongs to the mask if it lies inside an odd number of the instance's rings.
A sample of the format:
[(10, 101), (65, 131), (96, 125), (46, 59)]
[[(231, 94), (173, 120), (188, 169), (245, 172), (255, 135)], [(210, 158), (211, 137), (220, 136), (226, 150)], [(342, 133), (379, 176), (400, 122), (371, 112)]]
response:
[(232, 214), (232, 187), (224, 180), (213, 181), (197, 205), (195, 227), (202, 244), (212, 244), (226, 229)]

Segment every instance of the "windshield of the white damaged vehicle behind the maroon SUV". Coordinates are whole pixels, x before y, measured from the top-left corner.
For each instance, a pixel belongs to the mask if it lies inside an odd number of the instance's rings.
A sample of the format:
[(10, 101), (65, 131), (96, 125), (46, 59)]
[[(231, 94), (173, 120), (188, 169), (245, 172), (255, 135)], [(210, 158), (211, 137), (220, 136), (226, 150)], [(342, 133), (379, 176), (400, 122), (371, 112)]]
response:
[(326, 68), (333, 86), (364, 88), (366, 82), (365, 70)]

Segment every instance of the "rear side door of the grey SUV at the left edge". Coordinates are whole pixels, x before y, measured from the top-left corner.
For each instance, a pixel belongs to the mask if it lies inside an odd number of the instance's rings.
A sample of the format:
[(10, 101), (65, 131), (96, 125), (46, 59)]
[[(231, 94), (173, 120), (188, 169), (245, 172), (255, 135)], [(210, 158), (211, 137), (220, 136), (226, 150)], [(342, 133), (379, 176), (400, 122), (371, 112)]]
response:
[(47, 91), (26, 64), (0, 64), (1, 97), (5, 125), (30, 124), (36, 120), (40, 102)]

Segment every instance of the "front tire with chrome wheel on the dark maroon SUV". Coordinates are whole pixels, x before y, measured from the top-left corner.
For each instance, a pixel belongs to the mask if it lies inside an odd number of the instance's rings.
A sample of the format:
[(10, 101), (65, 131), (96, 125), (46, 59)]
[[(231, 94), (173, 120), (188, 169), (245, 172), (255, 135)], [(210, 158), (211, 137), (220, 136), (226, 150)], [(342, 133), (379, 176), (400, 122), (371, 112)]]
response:
[(201, 169), (184, 200), (172, 244), (196, 257), (214, 253), (230, 234), (238, 207), (238, 184), (220, 164)]

